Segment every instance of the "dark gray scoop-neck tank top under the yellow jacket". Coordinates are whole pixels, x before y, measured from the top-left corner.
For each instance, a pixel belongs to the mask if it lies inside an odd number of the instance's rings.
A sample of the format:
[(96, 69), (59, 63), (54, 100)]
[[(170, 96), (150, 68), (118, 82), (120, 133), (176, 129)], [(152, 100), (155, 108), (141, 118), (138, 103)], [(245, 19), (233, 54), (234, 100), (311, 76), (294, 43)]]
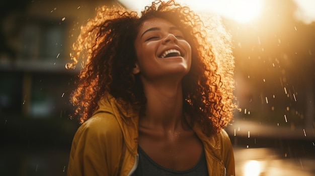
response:
[(138, 146), (138, 154), (139, 154), (139, 162), (135, 172), (132, 174), (133, 176), (161, 176), (161, 175), (208, 175), (207, 161), (204, 153), (204, 149), (202, 150), (201, 156), (198, 162), (188, 170), (173, 170), (166, 167), (163, 167), (156, 162), (154, 162), (144, 151)]

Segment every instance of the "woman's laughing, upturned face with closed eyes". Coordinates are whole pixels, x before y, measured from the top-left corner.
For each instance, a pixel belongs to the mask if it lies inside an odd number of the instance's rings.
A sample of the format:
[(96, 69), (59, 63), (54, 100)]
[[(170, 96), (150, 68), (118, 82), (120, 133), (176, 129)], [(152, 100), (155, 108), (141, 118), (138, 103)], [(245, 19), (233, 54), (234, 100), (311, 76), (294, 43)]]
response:
[(181, 29), (167, 20), (152, 18), (143, 22), (135, 40), (137, 54), (134, 74), (159, 79), (185, 76), (191, 66), (191, 47)]

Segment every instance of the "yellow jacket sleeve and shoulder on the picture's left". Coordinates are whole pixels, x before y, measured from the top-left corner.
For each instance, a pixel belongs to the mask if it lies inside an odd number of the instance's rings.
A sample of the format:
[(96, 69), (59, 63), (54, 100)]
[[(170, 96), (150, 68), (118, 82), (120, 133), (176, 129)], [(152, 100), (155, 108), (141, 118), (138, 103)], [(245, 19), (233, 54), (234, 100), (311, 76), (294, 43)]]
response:
[(67, 175), (116, 175), (122, 148), (122, 132), (116, 118), (99, 113), (76, 131)]

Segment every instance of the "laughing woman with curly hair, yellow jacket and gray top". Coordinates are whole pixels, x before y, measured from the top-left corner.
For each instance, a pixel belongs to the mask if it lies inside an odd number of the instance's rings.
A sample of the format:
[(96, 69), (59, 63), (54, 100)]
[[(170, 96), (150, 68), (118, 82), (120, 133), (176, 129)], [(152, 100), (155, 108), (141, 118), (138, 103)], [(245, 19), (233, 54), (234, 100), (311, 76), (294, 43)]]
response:
[(141, 17), (97, 10), (67, 65), (87, 58), (71, 99), (83, 124), (68, 175), (234, 175), (223, 130), (233, 57), (214, 24), (174, 1), (153, 2)]

